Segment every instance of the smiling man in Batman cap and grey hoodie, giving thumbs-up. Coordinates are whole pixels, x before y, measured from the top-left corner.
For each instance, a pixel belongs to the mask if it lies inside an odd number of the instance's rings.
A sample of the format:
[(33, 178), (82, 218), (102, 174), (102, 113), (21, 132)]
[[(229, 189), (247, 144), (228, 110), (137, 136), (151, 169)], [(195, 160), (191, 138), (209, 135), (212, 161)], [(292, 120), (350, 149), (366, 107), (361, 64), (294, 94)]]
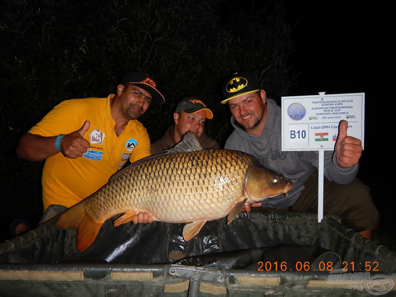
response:
[[(261, 205), (269, 209), (316, 212), (318, 152), (282, 152), (281, 108), (266, 97), (253, 74), (232, 74), (223, 83), (222, 92), (225, 99), (221, 103), (228, 103), (234, 126), (225, 148), (252, 154), (293, 181), (287, 196), (268, 198)], [(371, 238), (372, 230), (378, 226), (379, 213), (369, 188), (356, 178), (362, 145), (359, 139), (346, 135), (347, 124), (341, 121), (339, 125), (335, 152), (324, 153), (324, 213), (339, 215), (341, 223)], [(245, 208), (249, 211), (248, 206)]]

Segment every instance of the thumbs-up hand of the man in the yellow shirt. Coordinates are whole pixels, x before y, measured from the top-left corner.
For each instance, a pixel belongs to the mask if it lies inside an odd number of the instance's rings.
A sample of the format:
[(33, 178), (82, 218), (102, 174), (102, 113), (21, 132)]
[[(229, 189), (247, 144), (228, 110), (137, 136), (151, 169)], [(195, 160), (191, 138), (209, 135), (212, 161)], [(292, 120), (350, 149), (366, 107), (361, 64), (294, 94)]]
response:
[(59, 147), (65, 157), (76, 159), (87, 151), (89, 142), (84, 139), (84, 134), (88, 131), (90, 125), (89, 121), (85, 121), (80, 129), (65, 135), (61, 139)]

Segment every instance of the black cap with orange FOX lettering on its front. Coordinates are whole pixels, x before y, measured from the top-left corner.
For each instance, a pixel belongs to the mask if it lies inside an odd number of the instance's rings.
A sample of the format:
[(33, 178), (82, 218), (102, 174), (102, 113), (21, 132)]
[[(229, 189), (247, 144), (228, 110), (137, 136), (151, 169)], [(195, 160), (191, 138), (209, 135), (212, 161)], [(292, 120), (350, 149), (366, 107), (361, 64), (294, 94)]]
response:
[(122, 78), (120, 84), (132, 84), (148, 91), (152, 96), (152, 103), (162, 104), (165, 102), (165, 98), (157, 90), (157, 84), (152, 76), (143, 71), (135, 70), (127, 72)]

